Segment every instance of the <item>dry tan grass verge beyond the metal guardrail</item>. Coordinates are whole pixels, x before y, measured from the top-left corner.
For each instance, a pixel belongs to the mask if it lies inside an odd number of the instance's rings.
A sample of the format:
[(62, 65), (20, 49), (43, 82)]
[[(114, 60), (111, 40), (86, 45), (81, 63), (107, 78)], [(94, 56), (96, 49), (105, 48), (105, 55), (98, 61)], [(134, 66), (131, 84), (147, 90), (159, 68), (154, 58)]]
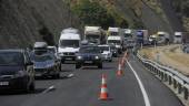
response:
[(158, 52), (160, 53), (160, 63), (177, 68), (180, 73), (189, 76), (189, 54), (182, 53), (178, 45), (159, 46), (156, 50), (149, 47), (140, 51), (150, 60), (156, 60)]

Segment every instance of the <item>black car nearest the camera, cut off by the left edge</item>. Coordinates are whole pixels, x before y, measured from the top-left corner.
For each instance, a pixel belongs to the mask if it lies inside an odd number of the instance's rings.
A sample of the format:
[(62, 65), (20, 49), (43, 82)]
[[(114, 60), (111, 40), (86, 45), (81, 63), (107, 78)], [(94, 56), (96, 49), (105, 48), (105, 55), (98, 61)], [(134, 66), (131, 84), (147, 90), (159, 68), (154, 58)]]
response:
[(0, 50), (0, 88), (34, 91), (33, 63), (24, 50)]

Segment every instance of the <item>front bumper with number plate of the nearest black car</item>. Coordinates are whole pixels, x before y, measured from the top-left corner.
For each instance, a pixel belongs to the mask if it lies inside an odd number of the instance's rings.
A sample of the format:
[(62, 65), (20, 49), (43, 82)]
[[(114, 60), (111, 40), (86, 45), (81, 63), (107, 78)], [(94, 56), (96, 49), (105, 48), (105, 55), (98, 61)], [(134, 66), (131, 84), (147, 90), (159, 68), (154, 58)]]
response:
[(22, 89), (28, 84), (28, 76), (18, 77), (18, 78), (9, 78), (9, 80), (0, 80), (0, 89)]

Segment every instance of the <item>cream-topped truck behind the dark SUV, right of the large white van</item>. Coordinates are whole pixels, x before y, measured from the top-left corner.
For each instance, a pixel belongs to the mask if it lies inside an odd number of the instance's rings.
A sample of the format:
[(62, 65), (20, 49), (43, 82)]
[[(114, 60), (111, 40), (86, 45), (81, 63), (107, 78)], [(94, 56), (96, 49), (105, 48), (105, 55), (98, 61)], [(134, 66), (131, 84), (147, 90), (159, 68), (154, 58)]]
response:
[(106, 32), (101, 26), (84, 26), (84, 40), (93, 44), (105, 44)]

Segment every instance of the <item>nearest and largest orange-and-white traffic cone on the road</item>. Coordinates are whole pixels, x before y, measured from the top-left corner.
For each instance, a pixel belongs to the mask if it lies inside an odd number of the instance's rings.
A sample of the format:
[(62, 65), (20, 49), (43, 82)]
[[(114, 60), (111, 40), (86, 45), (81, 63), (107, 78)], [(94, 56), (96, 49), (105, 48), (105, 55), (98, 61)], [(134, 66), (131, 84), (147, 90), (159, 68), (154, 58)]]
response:
[(101, 91), (100, 91), (100, 100), (108, 100), (108, 88), (107, 88), (107, 80), (106, 75), (102, 74), (102, 82), (101, 82)]

